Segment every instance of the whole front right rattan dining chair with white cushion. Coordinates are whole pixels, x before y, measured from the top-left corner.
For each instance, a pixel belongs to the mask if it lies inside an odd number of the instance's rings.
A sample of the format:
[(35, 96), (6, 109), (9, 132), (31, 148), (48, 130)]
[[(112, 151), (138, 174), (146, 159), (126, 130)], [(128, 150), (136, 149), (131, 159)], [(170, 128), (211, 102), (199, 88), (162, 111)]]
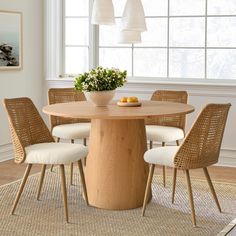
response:
[(143, 201), (143, 216), (145, 213), (148, 193), (151, 188), (153, 172), (156, 164), (174, 168), (172, 203), (174, 203), (177, 169), (185, 171), (189, 201), (192, 211), (192, 222), (194, 226), (196, 226), (196, 216), (189, 175), (190, 169), (203, 168), (213, 198), (219, 211), (221, 212), (221, 207), (207, 167), (218, 162), (230, 106), (231, 104), (208, 104), (198, 116), (180, 147), (159, 147), (145, 152), (144, 159), (150, 164), (150, 169)]

